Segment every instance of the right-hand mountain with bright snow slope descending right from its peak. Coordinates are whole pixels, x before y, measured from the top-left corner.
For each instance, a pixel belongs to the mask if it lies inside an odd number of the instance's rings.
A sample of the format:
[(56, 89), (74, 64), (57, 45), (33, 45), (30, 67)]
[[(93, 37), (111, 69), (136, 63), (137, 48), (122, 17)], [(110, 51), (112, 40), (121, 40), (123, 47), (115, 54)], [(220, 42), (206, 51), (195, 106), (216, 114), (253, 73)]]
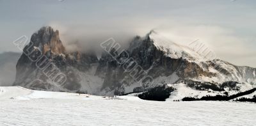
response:
[[(235, 84), (237, 81), (245, 83), (239, 85), (241, 90), (249, 90), (256, 84), (256, 77), (253, 74), (256, 71), (255, 68), (237, 67), (220, 59), (204, 60), (200, 54), (189, 47), (169, 42), (154, 31), (143, 38), (138, 36), (134, 38), (127, 52), (133, 60), (128, 60), (125, 64), (137, 63), (154, 81), (151, 85), (134, 82), (130, 73), (125, 72), (124, 65), (118, 64), (122, 63), (122, 59), (127, 56), (120, 54), (116, 59), (109, 55), (103, 56), (101, 59), (103, 64), (100, 65), (99, 71), (112, 75), (106, 77), (111, 79), (105, 78), (103, 86), (106, 85), (110, 90), (116, 90), (116, 95), (136, 91), (136, 89), (147, 90), (159, 84), (173, 84), (180, 79), (209, 82), (217, 86), (227, 81), (234, 82), (228, 86), (238, 86), (239, 84)], [(134, 67), (133, 70), (140, 73), (140, 68)], [(113, 84), (115, 86), (111, 87)]]

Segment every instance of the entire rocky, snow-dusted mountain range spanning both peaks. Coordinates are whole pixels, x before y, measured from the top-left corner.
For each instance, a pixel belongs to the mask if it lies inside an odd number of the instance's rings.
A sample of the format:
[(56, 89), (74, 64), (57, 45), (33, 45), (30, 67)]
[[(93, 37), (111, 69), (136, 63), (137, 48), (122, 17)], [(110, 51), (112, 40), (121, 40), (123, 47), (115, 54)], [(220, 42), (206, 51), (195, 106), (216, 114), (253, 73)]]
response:
[[(26, 55), (26, 51), (31, 53)], [(113, 58), (113, 54), (118, 56)], [(57, 73), (67, 76), (67, 81), (61, 85), (52, 83), (52, 75), (55, 75), (49, 72), (52, 67), (41, 70), (36, 64), (44, 64), (43, 60), (31, 61), (38, 56), (49, 59), (51, 66), (58, 68), (55, 69)], [(31, 43), (24, 48), (17, 63), (14, 84), (36, 90), (79, 91), (95, 95), (123, 95), (177, 83), (198, 91), (218, 89), (232, 92), (254, 88), (255, 73), (256, 68), (237, 67), (220, 59), (205, 60), (193, 49), (166, 40), (155, 31), (144, 37), (136, 36), (130, 47), (120, 54), (112, 48), (110, 53), (103, 53), (97, 59), (93, 51), (67, 52), (58, 30), (44, 27), (31, 36)], [(150, 82), (153, 83), (141, 81), (141, 76), (152, 77)]]

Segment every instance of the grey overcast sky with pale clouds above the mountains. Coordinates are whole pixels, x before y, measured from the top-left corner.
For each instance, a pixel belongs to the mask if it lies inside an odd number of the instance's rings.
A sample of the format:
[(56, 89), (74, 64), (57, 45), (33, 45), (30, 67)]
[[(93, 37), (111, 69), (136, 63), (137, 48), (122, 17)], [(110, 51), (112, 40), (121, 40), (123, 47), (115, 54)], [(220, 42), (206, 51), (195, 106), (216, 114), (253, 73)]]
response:
[(59, 29), (65, 44), (81, 37), (121, 42), (155, 29), (173, 42), (198, 39), (218, 58), (256, 67), (255, 6), (255, 0), (0, 0), (0, 52), (18, 52), (13, 40), (42, 26)]

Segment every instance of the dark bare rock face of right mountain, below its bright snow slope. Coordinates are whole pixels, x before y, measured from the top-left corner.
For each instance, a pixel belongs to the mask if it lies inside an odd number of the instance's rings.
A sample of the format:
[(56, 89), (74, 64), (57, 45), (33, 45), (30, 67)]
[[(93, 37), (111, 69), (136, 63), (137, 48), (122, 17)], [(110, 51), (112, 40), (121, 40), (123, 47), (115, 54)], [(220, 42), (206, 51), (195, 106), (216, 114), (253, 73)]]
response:
[[(134, 45), (136, 45), (136, 47), (134, 47)], [(111, 52), (115, 52), (115, 50)], [(200, 74), (211, 74), (202, 70), (202, 68), (200, 68), (198, 65), (191, 63), (186, 59), (173, 59), (166, 56), (163, 51), (160, 51), (154, 46), (149, 37), (141, 40), (137, 36), (131, 43), (131, 47), (129, 47), (127, 52), (133, 60), (127, 61), (125, 64), (130, 64), (131, 62), (138, 63), (143, 70), (147, 71), (147, 75), (153, 79), (161, 76), (168, 77), (174, 72), (178, 72), (177, 74), (180, 78), (198, 77)], [(122, 63), (121, 59), (125, 58), (127, 58), (125, 54), (120, 54), (120, 56), (116, 58), (117, 61), (113, 59), (110, 54), (105, 54), (102, 56), (96, 74), (100, 77), (104, 77), (102, 89), (110, 88), (110, 90), (117, 90), (115, 95), (122, 95), (124, 87), (131, 86), (132, 84), (140, 81), (134, 80), (131, 75), (129, 75), (129, 72), (125, 72), (123, 67), (124, 64), (118, 64)], [(158, 84), (159, 82), (156, 81), (156, 83)], [(142, 86), (141, 88), (145, 90), (147, 90), (147, 88), (152, 88), (151, 85), (145, 85), (143, 83), (138, 84), (138, 86)]]

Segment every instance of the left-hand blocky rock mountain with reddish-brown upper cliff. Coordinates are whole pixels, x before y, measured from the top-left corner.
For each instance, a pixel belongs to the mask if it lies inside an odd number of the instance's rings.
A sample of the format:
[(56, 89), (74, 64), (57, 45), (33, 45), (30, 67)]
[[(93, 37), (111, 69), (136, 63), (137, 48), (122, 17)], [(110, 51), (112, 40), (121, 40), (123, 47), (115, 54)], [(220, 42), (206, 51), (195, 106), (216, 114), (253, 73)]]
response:
[[(83, 80), (79, 72), (88, 72), (97, 62), (93, 53), (65, 52), (59, 32), (44, 27), (31, 36), (31, 42), (24, 48), (14, 84), (39, 90), (78, 91)], [(65, 83), (52, 84), (54, 75), (60, 73), (66, 76)]]

